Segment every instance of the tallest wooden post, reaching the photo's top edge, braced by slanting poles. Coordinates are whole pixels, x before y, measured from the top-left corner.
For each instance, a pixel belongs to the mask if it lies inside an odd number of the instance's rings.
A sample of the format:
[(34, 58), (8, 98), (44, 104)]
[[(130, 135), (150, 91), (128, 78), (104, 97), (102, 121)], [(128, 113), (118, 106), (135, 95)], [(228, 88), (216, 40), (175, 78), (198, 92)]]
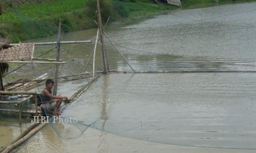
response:
[(104, 37), (103, 37), (103, 28), (102, 28), (99, 0), (97, 0), (97, 10), (98, 10), (97, 13), (98, 13), (99, 33), (100, 33), (100, 40), (101, 40), (101, 47), (102, 47), (101, 52), (102, 52), (103, 73), (108, 73), (109, 66), (108, 66), (108, 59), (106, 58), (106, 50), (105, 50)]

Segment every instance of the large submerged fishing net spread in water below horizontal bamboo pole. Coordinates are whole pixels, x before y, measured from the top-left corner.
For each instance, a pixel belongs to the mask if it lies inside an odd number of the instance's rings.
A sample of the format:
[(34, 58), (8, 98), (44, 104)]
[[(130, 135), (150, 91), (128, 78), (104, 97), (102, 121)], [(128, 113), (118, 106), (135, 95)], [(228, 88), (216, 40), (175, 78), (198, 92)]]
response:
[(104, 75), (62, 113), (78, 123), (63, 123), (55, 132), (61, 138), (86, 137), (91, 127), (158, 143), (255, 149), (255, 83), (250, 78), (232, 73)]

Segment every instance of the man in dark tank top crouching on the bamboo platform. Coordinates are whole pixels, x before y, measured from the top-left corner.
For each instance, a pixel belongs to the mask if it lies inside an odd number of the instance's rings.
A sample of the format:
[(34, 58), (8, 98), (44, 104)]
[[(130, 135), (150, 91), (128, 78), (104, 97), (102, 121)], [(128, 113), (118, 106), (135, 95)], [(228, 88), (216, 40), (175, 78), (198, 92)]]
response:
[[(41, 111), (45, 112), (46, 115), (47, 114), (51, 114), (51, 115), (60, 115), (58, 112), (59, 106), (62, 103), (63, 99), (68, 99), (68, 97), (66, 96), (55, 96), (52, 94), (52, 88), (54, 86), (54, 81), (52, 81), (51, 79), (48, 79), (46, 81), (46, 88), (44, 90), (42, 90), (41, 94), (40, 94), (40, 98), (41, 98)], [(56, 101), (53, 101), (53, 99), (56, 99)]]

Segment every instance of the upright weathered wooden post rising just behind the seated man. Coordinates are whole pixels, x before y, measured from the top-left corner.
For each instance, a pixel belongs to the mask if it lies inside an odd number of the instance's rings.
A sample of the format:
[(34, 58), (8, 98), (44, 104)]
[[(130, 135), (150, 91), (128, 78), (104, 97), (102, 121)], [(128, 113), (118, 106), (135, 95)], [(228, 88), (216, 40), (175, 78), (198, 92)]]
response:
[[(61, 20), (59, 20), (59, 32), (58, 32), (58, 41), (57, 41), (56, 62), (59, 62), (60, 32), (61, 32)], [(58, 72), (59, 72), (59, 65), (56, 64), (56, 66), (55, 66), (55, 75), (54, 75), (54, 89), (53, 89), (53, 95), (56, 95), (56, 94), (57, 94), (57, 89), (58, 89)]]

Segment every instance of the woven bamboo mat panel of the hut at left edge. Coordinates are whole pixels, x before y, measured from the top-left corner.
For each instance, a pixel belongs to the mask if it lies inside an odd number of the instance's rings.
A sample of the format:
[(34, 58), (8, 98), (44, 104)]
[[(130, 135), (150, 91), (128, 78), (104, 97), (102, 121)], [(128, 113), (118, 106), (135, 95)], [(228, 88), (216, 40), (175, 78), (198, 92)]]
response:
[(0, 50), (0, 63), (30, 60), (33, 58), (34, 46), (34, 43), (24, 43)]

